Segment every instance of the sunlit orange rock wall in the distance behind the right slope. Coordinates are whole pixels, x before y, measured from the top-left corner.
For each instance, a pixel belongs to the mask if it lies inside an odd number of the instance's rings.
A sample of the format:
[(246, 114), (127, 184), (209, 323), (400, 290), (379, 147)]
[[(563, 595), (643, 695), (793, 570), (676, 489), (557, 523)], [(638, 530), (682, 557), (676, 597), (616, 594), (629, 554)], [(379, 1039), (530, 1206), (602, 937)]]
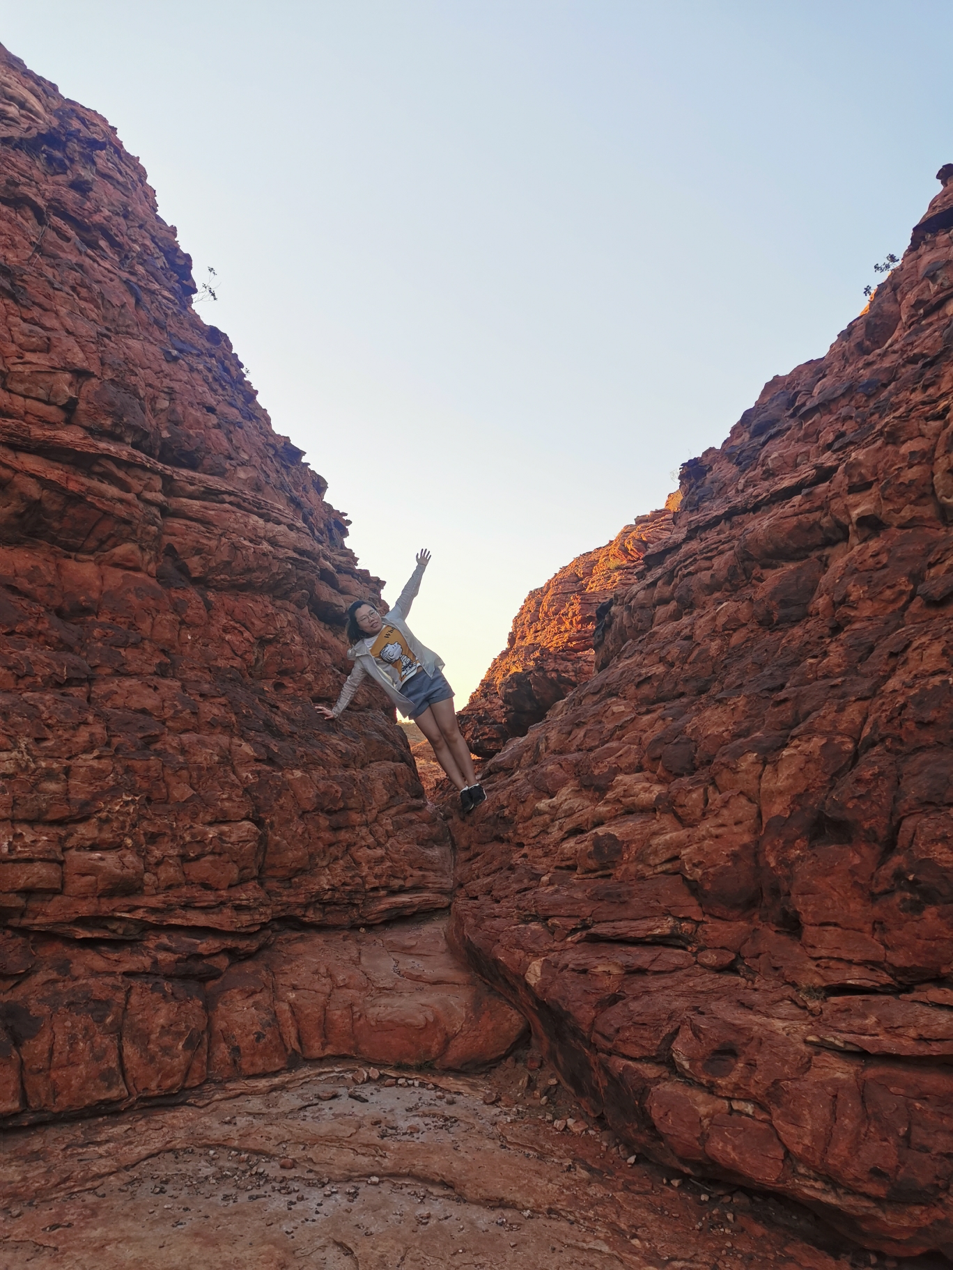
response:
[(492, 758), (511, 737), (525, 737), (592, 677), (593, 635), (601, 635), (612, 596), (632, 585), (645, 551), (668, 535), (680, 500), (671, 495), (666, 509), (639, 516), (611, 542), (585, 551), (529, 593), (506, 648), (457, 715), (474, 754)]

